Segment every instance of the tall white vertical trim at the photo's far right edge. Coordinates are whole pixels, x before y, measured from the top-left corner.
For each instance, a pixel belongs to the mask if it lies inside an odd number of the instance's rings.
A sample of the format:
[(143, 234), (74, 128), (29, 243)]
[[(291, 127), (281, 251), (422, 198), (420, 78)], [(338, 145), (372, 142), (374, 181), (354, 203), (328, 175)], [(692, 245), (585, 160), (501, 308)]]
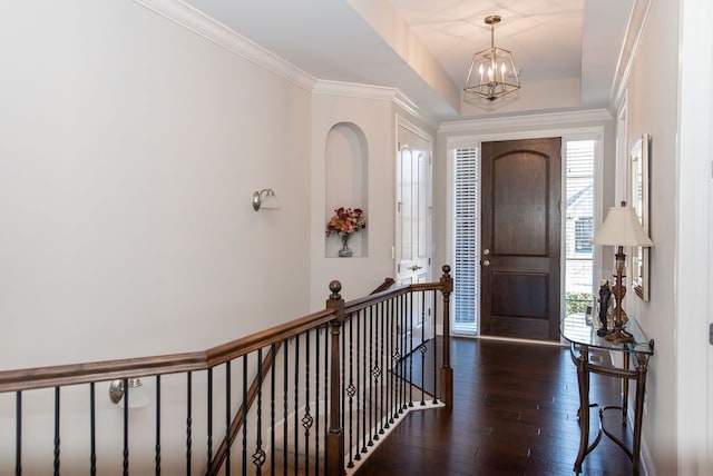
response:
[[(675, 445), (678, 475), (713, 468), (713, 31), (710, 0), (681, 0), (674, 245)], [(655, 33), (652, 33), (655, 34)], [(707, 266), (706, 266), (707, 265)]]

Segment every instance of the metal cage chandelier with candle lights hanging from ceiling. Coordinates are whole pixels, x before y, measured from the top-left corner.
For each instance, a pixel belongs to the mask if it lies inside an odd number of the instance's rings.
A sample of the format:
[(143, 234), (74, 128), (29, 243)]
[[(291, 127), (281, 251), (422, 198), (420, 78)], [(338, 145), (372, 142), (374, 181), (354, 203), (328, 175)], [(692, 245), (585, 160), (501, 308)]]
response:
[(486, 24), (490, 26), (490, 48), (472, 56), (463, 86), (467, 95), (489, 101), (520, 89), (520, 77), (515, 68), (512, 53), (495, 46), (495, 26), (500, 20), (498, 14), (486, 17)]

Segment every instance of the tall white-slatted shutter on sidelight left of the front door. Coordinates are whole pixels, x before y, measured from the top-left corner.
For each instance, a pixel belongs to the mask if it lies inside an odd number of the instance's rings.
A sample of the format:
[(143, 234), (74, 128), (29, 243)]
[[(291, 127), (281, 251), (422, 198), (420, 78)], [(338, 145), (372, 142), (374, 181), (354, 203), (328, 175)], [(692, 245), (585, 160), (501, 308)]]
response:
[(478, 149), (455, 150), (453, 331), (478, 331), (480, 184)]

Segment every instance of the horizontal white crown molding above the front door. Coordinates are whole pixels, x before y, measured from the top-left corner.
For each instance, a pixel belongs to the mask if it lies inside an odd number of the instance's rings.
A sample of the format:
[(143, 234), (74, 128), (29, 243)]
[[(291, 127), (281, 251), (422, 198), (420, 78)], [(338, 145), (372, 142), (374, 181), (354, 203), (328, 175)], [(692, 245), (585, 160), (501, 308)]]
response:
[(441, 123), (439, 132), (479, 132), (502, 131), (516, 128), (560, 127), (582, 122), (603, 122), (612, 120), (606, 109), (586, 111), (548, 112), (539, 115), (519, 115), (498, 118), (477, 118)]

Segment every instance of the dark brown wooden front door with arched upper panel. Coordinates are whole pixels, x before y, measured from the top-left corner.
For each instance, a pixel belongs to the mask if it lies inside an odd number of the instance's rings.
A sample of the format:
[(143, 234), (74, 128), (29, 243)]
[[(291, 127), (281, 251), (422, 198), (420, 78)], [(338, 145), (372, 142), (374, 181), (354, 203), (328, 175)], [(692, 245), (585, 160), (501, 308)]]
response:
[(480, 327), (559, 340), (561, 139), (482, 143)]

